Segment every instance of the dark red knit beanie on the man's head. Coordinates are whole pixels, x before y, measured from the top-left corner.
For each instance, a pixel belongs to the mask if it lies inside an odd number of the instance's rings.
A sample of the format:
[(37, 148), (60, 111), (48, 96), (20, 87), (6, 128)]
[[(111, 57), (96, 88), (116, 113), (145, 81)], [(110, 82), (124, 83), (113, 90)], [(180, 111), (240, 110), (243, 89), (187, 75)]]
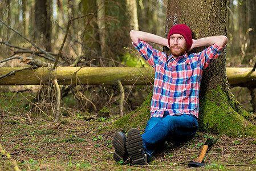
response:
[(186, 51), (189, 50), (189, 48), (192, 46), (192, 32), (188, 26), (185, 24), (182, 25), (174, 25), (172, 28), (170, 28), (169, 34), (168, 34), (168, 44), (170, 47), (170, 36), (173, 34), (181, 34), (184, 36), (186, 40)]

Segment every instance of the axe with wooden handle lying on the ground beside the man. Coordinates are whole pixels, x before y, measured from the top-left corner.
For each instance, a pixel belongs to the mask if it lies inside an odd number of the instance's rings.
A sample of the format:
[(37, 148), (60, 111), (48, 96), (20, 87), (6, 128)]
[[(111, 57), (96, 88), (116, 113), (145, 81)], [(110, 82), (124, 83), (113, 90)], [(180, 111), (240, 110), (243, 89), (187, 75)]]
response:
[(202, 150), (199, 157), (196, 158), (196, 160), (189, 162), (188, 166), (190, 168), (198, 168), (198, 167), (204, 166), (205, 164), (202, 164), (202, 160), (204, 160), (205, 153), (208, 147), (211, 146), (212, 144), (213, 144), (213, 139), (207, 139), (204, 146), (202, 146)]

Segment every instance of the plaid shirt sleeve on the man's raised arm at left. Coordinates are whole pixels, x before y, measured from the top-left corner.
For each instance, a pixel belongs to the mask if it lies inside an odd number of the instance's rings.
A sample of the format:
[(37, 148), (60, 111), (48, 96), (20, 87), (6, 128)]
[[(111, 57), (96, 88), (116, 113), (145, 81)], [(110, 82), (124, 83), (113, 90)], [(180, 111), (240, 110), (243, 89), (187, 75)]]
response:
[(132, 44), (133, 46), (135, 46), (140, 55), (143, 56), (143, 58), (147, 60), (149, 64), (151, 64), (152, 67), (156, 66), (156, 63), (159, 61), (159, 58), (161, 58), (162, 52), (156, 50), (150, 44), (141, 39), (138, 39), (136, 42), (133, 42)]

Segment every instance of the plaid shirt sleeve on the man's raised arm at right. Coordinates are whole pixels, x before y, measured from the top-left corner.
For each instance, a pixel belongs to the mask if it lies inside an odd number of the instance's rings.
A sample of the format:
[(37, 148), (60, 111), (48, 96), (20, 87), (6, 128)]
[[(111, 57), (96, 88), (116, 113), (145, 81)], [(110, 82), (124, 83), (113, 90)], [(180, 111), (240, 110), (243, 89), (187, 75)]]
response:
[(203, 69), (210, 66), (210, 64), (217, 59), (218, 55), (221, 54), (221, 52), (224, 50), (226, 46), (221, 47), (217, 44), (212, 44), (212, 46), (209, 46), (205, 50), (201, 51), (198, 55), (198, 63), (201, 63)]

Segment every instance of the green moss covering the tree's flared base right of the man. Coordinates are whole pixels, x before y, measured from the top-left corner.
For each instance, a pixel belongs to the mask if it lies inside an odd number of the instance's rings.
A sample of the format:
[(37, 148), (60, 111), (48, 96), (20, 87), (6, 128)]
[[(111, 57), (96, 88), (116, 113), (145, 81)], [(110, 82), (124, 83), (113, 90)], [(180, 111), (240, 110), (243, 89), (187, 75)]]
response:
[[(256, 127), (246, 119), (245, 110), (237, 110), (237, 101), (230, 100), (222, 87), (212, 89), (200, 98), (199, 128), (200, 131), (225, 133), (228, 136), (255, 135)], [(239, 112), (239, 113), (238, 113)]]

